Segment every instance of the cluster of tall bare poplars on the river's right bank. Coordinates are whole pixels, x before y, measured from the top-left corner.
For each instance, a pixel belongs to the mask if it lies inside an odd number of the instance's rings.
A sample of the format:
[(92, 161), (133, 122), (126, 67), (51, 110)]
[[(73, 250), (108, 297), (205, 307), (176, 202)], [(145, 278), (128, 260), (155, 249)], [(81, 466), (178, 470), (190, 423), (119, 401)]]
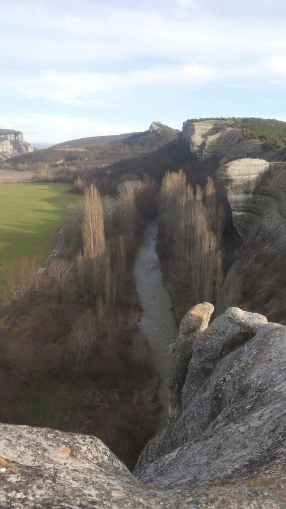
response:
[(176, 285), (190, 303), (215, 302), (222, 283), (222, 214), (213, 181), (195, 192), (185, 174), (166, 173), (160, 192), (160, 210), (171, 246)]

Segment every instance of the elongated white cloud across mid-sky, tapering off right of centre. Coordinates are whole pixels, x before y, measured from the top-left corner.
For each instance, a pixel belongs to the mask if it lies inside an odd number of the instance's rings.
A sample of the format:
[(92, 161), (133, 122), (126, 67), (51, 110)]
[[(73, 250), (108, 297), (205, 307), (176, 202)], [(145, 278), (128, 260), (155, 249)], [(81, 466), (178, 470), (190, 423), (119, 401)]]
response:
[(198, 65), (165, 65), (130, 72), (93, 73), (43, 71), (33, 78), (15, 80), (4, 76), (0, 81), (0, 92), (4, 95), (19, 95), (28, 99), (47, 99), (65, 104), (104, 105), (119, 94), (134, 88), (156, 86), (157, 84), (190, 84), (214, 79), (215, 68)]

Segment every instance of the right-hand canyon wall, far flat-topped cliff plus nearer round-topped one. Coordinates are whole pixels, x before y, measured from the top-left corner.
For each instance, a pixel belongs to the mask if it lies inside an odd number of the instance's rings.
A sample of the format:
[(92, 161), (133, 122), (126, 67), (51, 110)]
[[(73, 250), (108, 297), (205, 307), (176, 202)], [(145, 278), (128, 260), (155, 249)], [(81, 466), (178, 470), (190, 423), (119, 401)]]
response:
[(227, 216), (226, 255), (237, 249), (217, 312), (235, 305), (286, 324), (286, 163), (275, 162), (281, 154), (265, 152), (259, 140), (244, 139), (231, 119), (186, 121), (183, 137), (203, 165), (217, 167), (212, 176)]

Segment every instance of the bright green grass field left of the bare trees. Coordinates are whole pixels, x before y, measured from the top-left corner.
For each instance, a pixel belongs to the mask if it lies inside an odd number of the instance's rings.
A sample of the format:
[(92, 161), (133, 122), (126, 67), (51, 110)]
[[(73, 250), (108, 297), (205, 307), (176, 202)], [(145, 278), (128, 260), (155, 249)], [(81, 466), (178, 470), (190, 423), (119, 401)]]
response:
[(58, 242), (66, 208), (81, 199), (69, 184), (0, 184), (0, 265), (44, 261)]

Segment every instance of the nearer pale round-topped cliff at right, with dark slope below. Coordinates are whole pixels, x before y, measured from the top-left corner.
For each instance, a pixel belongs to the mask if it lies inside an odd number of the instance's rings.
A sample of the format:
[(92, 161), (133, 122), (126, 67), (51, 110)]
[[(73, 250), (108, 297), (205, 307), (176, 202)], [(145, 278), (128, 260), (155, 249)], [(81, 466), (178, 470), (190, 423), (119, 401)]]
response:
[(241, 159), (217, 172), (243, 240), (228, 271), (220, 310), (239, 305), (286, 323), (286, 163)]

